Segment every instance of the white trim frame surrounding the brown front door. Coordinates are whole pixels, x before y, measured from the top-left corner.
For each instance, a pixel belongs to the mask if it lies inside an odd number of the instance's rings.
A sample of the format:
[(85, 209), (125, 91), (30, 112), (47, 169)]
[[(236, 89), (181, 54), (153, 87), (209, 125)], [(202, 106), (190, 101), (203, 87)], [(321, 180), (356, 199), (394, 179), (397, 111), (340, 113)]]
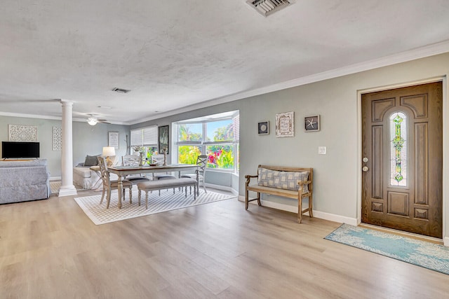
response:
[(368, 92), (378, 92), (382, 90), (391, 90), (396, 88), (404, 88), (412, 85), (426, 84), (432, 82), (443, 83), (443, 242), (445, 246), (449, 246), (449, 235), (446, 235), (446, 222), (449, 218), (449, 199), (446, 186), (449, 186), (449, 162), (445, 157), (449, 157), (449, 103), (447, 99), (448, 80), (445, 76), (423, 79), (420, 81), (413, 81), (409, 83), (399, 83), (394, 85), (382, 86), (379, 88), (368, 88), (364, 90), (357, 90), (357, 224), (361, 223), (362, 211), (362, 95)]

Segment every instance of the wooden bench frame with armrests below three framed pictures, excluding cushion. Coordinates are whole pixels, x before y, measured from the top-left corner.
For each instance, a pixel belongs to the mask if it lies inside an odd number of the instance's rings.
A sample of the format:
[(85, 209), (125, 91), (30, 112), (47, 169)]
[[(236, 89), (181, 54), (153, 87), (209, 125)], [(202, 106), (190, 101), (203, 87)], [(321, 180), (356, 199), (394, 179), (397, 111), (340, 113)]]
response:
[[(260, 169), (269, 169), (275, 172), (309, 172), (309, 175), (306, 179), (302, 181), (297, 181), (298, 189), (296, 190), (288, 190), (283, 188), (275, 188), (272, 186), (261, 186), (259, 184), (250, 185), (250, 180), (252, 178), (258, 178)], [(257, 200), (257, 204), (262, 206), (260, 203), (260, 193), (266, 193), (271, 195), (279, 195), (283, 197), (295, 198), (297, 199), (297, 221), (301, 223), (302, 214), (305, 212), (309, 212), (309, 216), (313, 217), (312, 212), (312, 179), (313, 179), (313, 168), (301, 168), (301, 167), (281, 167), (281, 166), (269, 166), (269, 165), (259, 165), (257, 167), (257, 175), (246, 175), (246, 186), (245, 186), (245, 209), (248, 209), (248, 203), (254, 200)], [(259, 179), (257, 179), (259, 181)], [(307, 188), (306, 188), (307, 186)], [(306, 190), (306, 192), (304, 192)], [(248, 193), (249, 191), (253, 191), (257, 193), (257, 197), (249, 200)], [(309, 197), (309, 207), (307, 209), (302, 209), (302, 199)]]

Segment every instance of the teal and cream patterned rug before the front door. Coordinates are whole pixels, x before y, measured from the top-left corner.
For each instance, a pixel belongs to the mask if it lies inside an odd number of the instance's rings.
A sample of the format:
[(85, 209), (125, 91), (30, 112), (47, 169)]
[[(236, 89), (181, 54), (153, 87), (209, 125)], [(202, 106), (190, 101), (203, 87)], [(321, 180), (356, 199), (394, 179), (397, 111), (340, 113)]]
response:
[(347, 224), (324, 239), (449, 274), (449, 248), (443, 245)]

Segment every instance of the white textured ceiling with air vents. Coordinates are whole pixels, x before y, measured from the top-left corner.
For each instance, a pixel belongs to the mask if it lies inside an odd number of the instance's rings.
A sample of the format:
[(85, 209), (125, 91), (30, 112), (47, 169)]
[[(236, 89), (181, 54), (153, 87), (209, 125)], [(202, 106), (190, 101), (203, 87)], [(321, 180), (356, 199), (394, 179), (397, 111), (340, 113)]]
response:
[(297, 0), (267, 18), (245, 0), (7, 1), (0, 113), (60, 117), (67, 99), (74, 118), (136, 123), (447, 42), (448, 15), (447, 0)]

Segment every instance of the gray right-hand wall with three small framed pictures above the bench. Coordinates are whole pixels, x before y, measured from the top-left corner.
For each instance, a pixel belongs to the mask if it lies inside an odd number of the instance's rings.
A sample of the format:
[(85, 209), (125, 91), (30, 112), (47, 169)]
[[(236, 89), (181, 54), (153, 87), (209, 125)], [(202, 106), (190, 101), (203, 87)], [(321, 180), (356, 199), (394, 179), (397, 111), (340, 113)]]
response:
[[(314, 209), (342, 217), (357, 218), (361, 144), (358, 90), (401, 85), (448, 74), (449, 53), (445, 53), (211, 106), (133, 127), (169, 125), (177, 120), (239, 110), (240, 195), (244, 195), (244, 175), (255, 174), (258, 164), (313, 167)], [(443, 89), (448, 90), (447, 82), (444, 84)], [(288, 111), (295, 112), (295, 137), (276, 138), (276, 113)], [(314, 114), (321, 116), (321, 131), (304, 132), (304, 116)], [(270, 121), (269, 135), (257, 134), (257, 122), (262, 120)], [(446, 129), (447, 125), (444, 132), (448, 134)], [(318, 146), (326, 146), (327, 155), (318, 155)], [(444, 151), (445, 155), (446, 153), (447, 147)], [(297, 204), (295, 200), (276, 197), (267, 197), (265, 200), (292, 206)], [(447, 209), (444, 213), (447, 218)], [(446, 232), (447, 226), (445, 225)]]

